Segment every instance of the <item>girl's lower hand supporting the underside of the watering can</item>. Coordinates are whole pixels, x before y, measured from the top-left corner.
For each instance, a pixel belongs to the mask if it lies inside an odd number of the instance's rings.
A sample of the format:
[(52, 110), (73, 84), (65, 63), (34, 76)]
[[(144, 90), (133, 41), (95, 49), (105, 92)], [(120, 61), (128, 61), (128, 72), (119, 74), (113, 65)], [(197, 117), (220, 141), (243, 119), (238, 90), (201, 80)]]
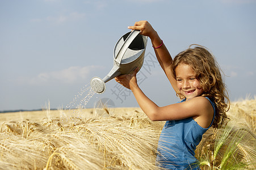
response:
[(131, 90), (132, 87), (137, 87), (137, 78), (136, 74), (138, 73), (139, 68), (136, 68), (131, 74), (124, 74), (115, 77), (117, 83)]

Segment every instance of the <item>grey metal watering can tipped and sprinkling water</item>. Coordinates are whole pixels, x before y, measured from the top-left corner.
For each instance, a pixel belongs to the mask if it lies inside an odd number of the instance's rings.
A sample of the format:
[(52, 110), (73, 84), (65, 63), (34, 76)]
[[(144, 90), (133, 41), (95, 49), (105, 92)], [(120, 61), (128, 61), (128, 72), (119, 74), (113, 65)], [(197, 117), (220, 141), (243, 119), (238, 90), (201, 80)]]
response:
[(140, 31), (133, 30), (123, 35), (114, 48), (114, 65), (103, 79), (91, 79), (91, 88), (98, 94), (103, 94), (109, 80), (122, 74), (131, 74), (137, 67), (139, 70), (144, 62), (144, 54), (148, 37), (140, 35)]

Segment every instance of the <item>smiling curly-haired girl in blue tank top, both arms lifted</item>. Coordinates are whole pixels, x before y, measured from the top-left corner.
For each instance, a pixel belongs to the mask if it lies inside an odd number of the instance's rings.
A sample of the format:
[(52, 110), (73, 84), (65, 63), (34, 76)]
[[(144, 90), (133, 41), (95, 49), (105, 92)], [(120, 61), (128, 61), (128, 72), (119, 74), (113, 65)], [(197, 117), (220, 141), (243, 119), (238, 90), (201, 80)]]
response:
[(150, 120), (166, 121), (158, 142), (157, 165), (167, 169), (200, 169), (195, 158), (196, 146), (209, 127), (219, 128), (225, 124), (229, 109), (219, 66), (203, 46), (190, 47), (173, 60), (157, 32), (146, 21), (128, 28), (138, 29), (150, 38), (158, 62), (181, 99), (179, 103), (158, 107), (138, 86), (137, 69), (115, 78), (133, 92)]

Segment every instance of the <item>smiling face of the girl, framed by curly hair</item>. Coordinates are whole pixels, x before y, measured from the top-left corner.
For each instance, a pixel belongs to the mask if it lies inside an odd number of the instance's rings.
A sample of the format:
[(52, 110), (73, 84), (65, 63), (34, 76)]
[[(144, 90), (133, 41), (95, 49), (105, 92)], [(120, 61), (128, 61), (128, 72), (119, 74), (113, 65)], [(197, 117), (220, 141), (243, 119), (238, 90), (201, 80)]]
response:
[(196, 79), (195, 71), (191, 66), (181, 63), (176, 67), (175, 72), (177, 87), (182, 95), (187, 99), (202, 95), (203, 88)]

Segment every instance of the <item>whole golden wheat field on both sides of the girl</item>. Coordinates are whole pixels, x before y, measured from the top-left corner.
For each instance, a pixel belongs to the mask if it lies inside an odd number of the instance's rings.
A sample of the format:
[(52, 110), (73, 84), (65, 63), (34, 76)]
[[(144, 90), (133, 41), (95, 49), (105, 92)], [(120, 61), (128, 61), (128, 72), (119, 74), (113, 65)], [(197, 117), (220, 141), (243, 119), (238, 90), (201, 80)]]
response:
[[(256, 168), (256, 99), (232, 102), (228, 117), (196, 149), (201, 169)], [(2, 113), (0, 169), (159, 169), (164, 124), (140, 108)]]

